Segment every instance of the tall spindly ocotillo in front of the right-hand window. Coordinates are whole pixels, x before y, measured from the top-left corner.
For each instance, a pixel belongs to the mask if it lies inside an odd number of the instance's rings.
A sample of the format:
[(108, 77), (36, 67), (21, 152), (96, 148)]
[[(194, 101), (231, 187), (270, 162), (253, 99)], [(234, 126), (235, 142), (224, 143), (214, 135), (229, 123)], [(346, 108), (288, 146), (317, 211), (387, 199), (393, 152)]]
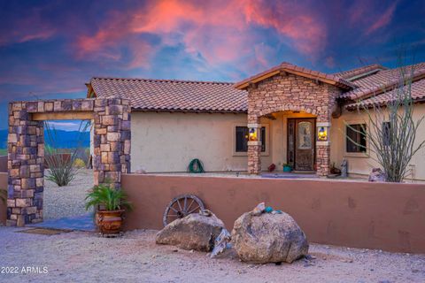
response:
[[(357, 102), (359, 115), (366, 114), (366, 126), (353, 127), (344, 121), (354, 133), (366, 139), (365, 154), (381, 166), (388, 182), (402, 182), (412, 157), (425, 147), (425, 141), (417, 139), (424, 117), (413, 118), (414, 65), (404, 66), (402, 63), (400, 60), (397, 83), (393, 88), (382, 89), (381, 95), (371, 97), (371, 103)], [(358, 147), (366, 149), (364, 144), (354, 141), (348, 134), (346, 137)]]

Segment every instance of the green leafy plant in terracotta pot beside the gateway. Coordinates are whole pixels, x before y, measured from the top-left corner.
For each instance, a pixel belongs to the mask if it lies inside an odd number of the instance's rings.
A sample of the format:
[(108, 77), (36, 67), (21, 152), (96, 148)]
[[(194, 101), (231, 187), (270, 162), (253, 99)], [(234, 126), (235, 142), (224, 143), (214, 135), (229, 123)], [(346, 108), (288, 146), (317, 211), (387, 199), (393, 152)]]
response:
[(109, 185), (101, 184), (93, 187), (86, 196), (86, 210), (93, 207), (96, 210), (96, 225), (105, 235), (121, 232), (123, 213), (131, 210), (126, 193)]

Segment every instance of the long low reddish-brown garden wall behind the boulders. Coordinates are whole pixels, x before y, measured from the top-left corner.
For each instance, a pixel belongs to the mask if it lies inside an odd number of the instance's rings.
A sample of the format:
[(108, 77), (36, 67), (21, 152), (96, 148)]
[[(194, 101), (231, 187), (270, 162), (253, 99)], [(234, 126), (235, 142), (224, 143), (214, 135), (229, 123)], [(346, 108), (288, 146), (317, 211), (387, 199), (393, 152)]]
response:
[(425, 185), (124, 174), (135, 209), (127, 229), (162, 228), (166, 205), (195, 194), (228, 230), (260, 202), (296, 219), (309, 241), (425, 253)]

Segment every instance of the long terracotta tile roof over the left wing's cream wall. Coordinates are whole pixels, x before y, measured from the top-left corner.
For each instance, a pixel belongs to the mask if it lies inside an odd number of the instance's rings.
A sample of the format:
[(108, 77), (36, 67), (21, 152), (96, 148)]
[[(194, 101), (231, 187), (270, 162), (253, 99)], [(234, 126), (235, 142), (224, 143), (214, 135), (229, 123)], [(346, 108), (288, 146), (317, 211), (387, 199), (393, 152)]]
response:
[(126, 97), (139, 111), (247, 111), (247, 92), (227, 82), (93, 78), (90, 85), (97, 97)]

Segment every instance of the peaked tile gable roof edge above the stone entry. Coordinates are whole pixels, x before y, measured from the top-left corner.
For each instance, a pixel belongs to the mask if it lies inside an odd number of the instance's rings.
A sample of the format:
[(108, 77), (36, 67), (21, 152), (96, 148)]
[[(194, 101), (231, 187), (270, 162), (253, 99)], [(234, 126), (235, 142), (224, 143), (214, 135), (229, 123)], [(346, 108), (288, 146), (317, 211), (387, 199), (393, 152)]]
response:
[(283, 62), (281, 65), (277, 65), (271, 69), (268, 69), (265, 72), (258, 73), (246, 80), (236, 82), (235, 88), (239, 88), (239, 89), (247, 88), (250, 83), (256, 83), (261, 80), (266, 80), (267, 78), (270, 78), (281, 72), (295, 73), (300, 76), (304, 76), (306, 78), (310, 78), (313, 80), (320, 80), (325, 83), (336, 85), (340, 88), (352, 89), (356, 87), (356, 85), (353, 84), (352, 82), (348, 80), (344, 80), (344, 78), (341, 78), (334, 74), (321, 73), (321, 72), (313, 71), (304, 67), (299, 67), (298, 65), (292, 65), (288, 62)]

